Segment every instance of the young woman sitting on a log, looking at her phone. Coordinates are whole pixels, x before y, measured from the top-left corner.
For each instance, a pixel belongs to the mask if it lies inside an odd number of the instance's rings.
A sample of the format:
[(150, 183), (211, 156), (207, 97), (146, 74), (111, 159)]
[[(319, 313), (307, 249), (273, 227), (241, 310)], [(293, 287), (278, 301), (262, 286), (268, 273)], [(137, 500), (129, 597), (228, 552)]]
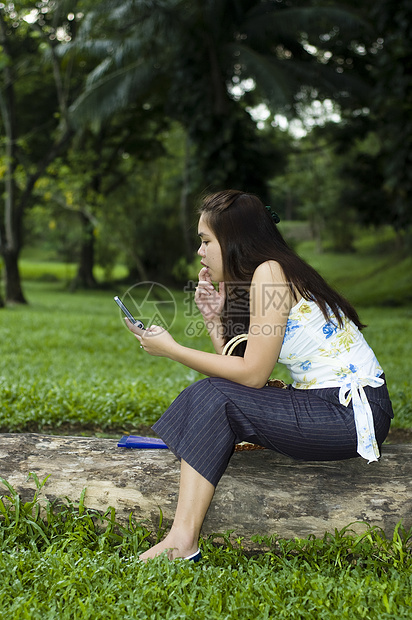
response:
[[(304, 460), (379, 458), (393, 417), (382, 368), (354, 308), (289, 248), (278, 221), (240, 191), (203, 201), (195, 300), (216, 353), (128, 322), (147, 353), (209, 377), (186, 388), (153, 427), (180, 458), (181, 479), (172, 528), (143, 560), (163, 552), (199, 558), (203, 519), (236, 443)], [(247, 341), (236, 346), (241, 334)], [(222, 355), (230, 342), (232, 355)], [(287, 389), (267, 385), (278, 362), (293, 379)]]

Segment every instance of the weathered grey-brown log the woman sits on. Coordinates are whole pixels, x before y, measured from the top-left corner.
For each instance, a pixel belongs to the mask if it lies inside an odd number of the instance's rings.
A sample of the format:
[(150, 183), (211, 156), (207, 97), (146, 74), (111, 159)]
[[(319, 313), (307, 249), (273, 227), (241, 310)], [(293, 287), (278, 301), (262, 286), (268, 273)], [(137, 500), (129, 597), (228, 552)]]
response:
[[(35, 473), (50, 475), (40, 497), (80, 499), (116, 520), (157, 529), (159, 508), (169, 524), (176, 507), (179, 462), (169, 450), (118, 448), (117, 440), (38, 434), (0, 435), (0, 476), (24, 501), (35, 491)], [(0, 483), (0, 495), (7, 495)], [(412, 446), (384, 445), (382, 458), (295, 461), (270, 450), (236, 452), (206, 516), (202, 534), (234, 530), (245, 542), (254, 534), (318, 537), (353, 522), (392, 535), (398, 521), (412, 526)], [(364, 531), (363, 523), (352, 527)]]

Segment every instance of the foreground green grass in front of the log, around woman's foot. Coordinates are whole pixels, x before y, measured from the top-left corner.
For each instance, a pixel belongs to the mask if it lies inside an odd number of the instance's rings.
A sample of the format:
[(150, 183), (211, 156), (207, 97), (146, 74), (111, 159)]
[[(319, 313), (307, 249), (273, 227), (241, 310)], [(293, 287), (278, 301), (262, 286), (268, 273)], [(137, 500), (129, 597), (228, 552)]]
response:
[[(316, 539), (256, 535), (253, 552), (230, 533), (201, 540), (202, 560), (146, 564), (156, 538), (142, 523), (116, 523), (84, 504), (22, 504), (5, 480), (0, 499), (0, 618), (348, 620), (409, 618), (412, 532), (366, 524)], [(359, 526), (359, 524), (358, 524)]]

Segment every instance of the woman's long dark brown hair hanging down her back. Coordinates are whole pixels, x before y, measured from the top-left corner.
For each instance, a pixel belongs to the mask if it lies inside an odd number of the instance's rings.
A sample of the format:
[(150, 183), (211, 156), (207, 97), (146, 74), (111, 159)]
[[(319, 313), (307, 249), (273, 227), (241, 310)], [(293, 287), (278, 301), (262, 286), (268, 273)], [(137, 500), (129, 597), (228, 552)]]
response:
[(199, 213), (222, 251), (227, 293), (222, 323), (226, 342), (249, 329), (250, 283), (255, 269), (267, 260), (279, 263), (296, 300), (298, 292), (305, 299), (316, 301), (326, 320), (331, 310), (340, 327), (344, 316), (359, 329), (365, 327), (348, 300), (288, 246), (257, 196), (232, 189), (211, 194), (203, 198)]

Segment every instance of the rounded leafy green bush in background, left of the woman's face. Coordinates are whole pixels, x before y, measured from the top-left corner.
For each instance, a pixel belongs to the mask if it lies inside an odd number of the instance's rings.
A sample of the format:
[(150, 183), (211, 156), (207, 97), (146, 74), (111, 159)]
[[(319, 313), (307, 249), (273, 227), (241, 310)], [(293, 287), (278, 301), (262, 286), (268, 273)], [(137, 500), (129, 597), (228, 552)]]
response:
[[(36, 184), (37, 204), (25, 218), (30, 246), (74, 263), (88, 239), (87, 225), (95, 276), (100, 269), (106, 282), (119, 277), (119, 262), (128, 268), (124, 275), (131, 272), (141, 280), (165, 276), (166, 267), (170, 276), (163, 260), (165, 239), (170, 262), (182, 254), (176, 204), (185, 135), (178, 124), (157, 119), (145, 110), (119, 114), (98, 134), (85, 132), (50, 165), (48, 176)], [(188, 245), (192, 252), (192, 238)]]

